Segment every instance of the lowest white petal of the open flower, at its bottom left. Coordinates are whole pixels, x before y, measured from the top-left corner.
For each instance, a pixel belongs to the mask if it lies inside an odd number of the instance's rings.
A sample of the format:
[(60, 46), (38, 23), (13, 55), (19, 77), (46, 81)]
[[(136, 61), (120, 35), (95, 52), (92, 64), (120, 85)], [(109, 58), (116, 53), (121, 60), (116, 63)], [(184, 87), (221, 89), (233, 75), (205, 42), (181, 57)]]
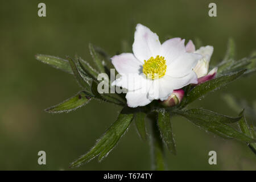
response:
[(143, 89), (129, 91), (125, 97), (127, 100), (127, 105), (129, 107), (146, 106), (152, 101), (147, 97), (147, 95), (148, 93), (144, 92)]

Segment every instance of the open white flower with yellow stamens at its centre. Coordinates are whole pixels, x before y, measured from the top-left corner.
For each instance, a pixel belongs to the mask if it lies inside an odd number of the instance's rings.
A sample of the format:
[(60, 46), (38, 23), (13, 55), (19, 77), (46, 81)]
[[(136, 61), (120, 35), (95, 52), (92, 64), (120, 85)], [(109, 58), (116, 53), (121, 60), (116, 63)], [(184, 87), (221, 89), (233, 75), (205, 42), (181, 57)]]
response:
[(122, 86), (129, 107), (144, 106), (152, 100), (166, 100), (175, 89), (197, 84), (193, 71), (198, 53), (189, 53), (185, 40), (173, 38), (163, 44), (158, 35), (142, 24), (137, 24), (133, 53), (112, 57), (112, 63), (121, 75), (112, 85)]

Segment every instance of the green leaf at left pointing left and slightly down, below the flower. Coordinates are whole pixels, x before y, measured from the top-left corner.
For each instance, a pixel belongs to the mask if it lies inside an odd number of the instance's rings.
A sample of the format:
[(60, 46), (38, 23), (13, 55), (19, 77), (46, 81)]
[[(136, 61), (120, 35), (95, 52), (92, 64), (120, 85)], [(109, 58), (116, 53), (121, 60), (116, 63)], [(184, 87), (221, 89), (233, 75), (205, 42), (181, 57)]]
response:
[(90, 96), (84, 91), (81, 91), (77, 93), (75, 96), (68, 98), (61, 104), (49, 107), (45, 111), (47, 111), (48, 113), (63, 113), (63, 112), (68, 113), (69, 111), (76, 110), (79, 107), (82, 107), (88, 104), (91, 98), (92, 96)]

